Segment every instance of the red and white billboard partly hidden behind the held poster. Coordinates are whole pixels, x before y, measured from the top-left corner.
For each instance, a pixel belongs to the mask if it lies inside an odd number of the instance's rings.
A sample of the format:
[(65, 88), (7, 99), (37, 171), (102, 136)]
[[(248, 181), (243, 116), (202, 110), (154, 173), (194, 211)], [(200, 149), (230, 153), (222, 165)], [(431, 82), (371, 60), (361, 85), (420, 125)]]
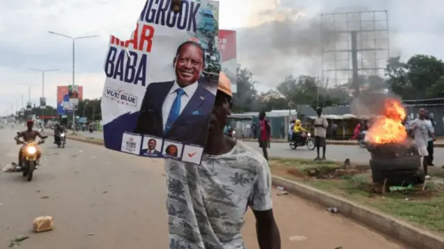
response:
[(219, 30), (219, 50), (222, 57), (221, 71), (230, 79), (232, 92), (237, 93), (236, 31)]

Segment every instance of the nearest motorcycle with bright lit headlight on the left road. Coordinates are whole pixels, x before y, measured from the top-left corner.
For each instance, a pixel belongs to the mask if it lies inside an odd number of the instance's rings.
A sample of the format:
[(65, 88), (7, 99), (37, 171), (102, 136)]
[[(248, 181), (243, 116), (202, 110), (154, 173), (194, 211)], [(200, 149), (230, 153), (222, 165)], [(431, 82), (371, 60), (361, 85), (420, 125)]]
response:
[(40, 140), (39, 142), (26, 142), (22, 152), (21, 162), (23, 177), (26, 177), (26, 180), (31, 181), (33, 179), (33, 173), (36, 169), (37, 165), (40, 164), (39, 158), (37, 158), (37, 145), (41, 145), (44, 143), (44, 140)]

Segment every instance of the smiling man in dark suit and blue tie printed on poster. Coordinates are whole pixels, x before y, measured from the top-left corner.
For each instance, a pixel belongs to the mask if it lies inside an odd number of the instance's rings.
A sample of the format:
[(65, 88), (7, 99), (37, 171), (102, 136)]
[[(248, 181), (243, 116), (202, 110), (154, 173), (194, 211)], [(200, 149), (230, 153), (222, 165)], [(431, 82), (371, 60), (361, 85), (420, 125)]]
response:
[(214, 95), (198, 82), (204, 56), (200, 44), (180, 44), (173, 59), (176, 80), (148, 84), (135, 133), (205, 145)]

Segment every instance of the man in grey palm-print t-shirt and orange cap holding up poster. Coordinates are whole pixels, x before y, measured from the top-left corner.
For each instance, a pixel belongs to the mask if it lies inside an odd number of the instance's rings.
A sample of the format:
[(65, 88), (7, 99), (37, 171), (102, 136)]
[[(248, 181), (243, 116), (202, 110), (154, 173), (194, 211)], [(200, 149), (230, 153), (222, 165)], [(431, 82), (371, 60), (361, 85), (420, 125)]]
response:
[(230, 80), (221, 73), (202, 163), (165, 164), (170, 249), (245, 249), (241, 230), (248, 208), (255, 214), (259, 248), (280, 249), (270, 168), (255, 149), (223, 133), (231, 107)]

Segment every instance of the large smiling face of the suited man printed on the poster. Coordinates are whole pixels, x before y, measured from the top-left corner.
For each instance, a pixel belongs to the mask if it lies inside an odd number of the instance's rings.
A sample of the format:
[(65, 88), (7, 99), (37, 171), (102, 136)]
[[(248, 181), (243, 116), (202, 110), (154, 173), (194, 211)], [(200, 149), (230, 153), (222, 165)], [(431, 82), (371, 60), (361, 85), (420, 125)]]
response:
[(197, 82), (203, 71), (203, 51), (198, 46), (187, 44), (174, 59), (178, 84), (188, 86)]

